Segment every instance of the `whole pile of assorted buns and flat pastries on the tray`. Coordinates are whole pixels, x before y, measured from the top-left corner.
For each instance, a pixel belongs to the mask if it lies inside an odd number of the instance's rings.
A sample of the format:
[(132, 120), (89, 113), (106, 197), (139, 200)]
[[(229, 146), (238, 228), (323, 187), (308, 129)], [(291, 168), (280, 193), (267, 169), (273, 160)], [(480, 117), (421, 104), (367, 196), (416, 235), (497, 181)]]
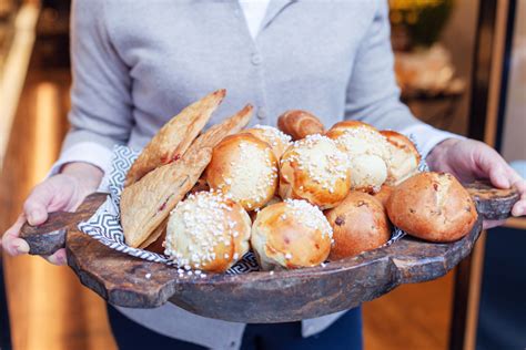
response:
[(244, 130), (251, 105), (202, 132), (224, 95), (184, 109), (130, 168), (128, 245), (164, 253), (182, 271), (225, 271), (252, 249), (271, 270), (375, 249), (391, 223), (433, 241), (473, 227), (467, 192), (452, 175), (418, 173), (407, 137), (357, 121), (325, 131), (304, 111), (285, 112), (279, 128)]

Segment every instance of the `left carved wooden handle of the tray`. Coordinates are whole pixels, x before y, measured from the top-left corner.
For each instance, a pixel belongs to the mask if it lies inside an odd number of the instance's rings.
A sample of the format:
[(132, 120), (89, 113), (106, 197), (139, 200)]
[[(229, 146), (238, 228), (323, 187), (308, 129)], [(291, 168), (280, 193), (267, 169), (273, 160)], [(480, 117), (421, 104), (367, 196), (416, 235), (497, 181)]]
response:
[(51, 255), (60, 248), (65, 247), (65, 235), (68, 229), (74, 227), (80, 222), (89, 219), (97, 209), (104, 203), (108, 194), (93, 193), (85, 197), (77, 212), (54, 212), (50, 213), (48, 220), (39, 226), (31, 226), (24, 223), (20, 229), (20, 238), (29, 245), (31, 255)]

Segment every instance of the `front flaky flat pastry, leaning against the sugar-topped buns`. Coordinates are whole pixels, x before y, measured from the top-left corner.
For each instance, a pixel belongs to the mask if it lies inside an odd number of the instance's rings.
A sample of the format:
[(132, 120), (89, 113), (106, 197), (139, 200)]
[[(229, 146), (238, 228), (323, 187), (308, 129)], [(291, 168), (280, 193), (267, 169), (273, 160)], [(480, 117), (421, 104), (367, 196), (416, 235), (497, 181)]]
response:
[(160, 166), (124, 187), (121, 194), (121, 224), (128, 245), (150, 248), (159, 247), (164, 241), (170, 212), (198, 183), (212, 158), (212, 148), (226, 135), (244, 127), (251, 115), (252, 106), (246, 105), (200, 135), (181, 159)]

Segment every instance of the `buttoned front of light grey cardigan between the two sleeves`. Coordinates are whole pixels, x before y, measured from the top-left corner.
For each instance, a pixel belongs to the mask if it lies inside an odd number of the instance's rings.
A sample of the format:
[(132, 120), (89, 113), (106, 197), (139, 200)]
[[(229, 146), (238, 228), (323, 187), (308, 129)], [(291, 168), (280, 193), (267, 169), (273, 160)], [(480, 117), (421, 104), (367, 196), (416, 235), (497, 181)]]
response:
[(184, 106), (221, 87), (211, 124), (246, 103), (253, 124), (302, 109), (343, 119), (346, 87), (376, 1), (272, 0), (255, 40), (237, 1), (110, 1), (107, 28), (132, 78), (130, 145), (142, 147)]

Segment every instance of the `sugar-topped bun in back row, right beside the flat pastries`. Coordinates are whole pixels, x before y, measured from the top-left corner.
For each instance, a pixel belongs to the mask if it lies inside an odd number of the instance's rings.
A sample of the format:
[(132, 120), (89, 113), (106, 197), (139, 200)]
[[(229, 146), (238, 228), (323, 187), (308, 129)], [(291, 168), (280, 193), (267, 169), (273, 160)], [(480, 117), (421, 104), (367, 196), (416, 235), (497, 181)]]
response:
[(212, 189), (253, 210), (276, 192), (277, 159), (266, 142), (249, 133), (235, 134), (214, 147), (205, 177)]

